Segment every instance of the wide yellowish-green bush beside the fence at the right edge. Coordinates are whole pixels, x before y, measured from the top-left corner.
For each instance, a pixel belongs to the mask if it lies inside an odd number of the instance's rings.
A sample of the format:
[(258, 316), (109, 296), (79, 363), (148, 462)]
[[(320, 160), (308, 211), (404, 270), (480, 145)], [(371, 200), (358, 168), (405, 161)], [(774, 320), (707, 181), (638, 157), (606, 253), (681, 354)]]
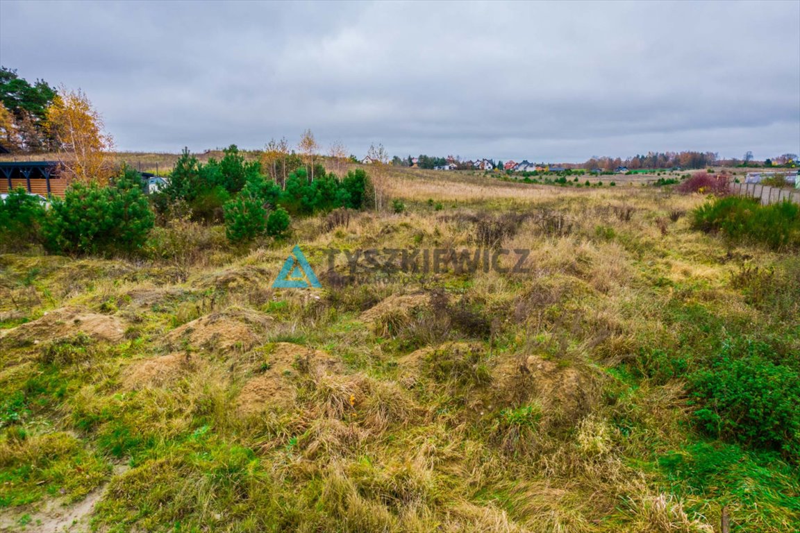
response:
[(717, 198), (695, 209), (692, 227), (721, 232), (733, 241), (750, 240), (771, 249), (800, 246), (800, 207), (789, 201), (761, 205), (754, 198)]

